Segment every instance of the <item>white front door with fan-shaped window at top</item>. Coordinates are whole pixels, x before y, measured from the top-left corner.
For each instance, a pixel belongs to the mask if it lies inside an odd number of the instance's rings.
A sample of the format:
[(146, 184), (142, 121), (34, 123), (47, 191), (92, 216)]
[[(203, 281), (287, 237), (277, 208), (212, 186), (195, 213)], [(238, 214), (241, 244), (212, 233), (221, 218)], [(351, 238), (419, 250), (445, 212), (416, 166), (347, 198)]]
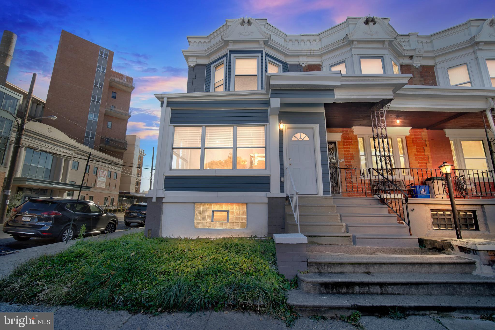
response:
[(287, 138), (287, 166), (297, 191), (301, 195), (317, 195), (313, 128), (288, 127)]

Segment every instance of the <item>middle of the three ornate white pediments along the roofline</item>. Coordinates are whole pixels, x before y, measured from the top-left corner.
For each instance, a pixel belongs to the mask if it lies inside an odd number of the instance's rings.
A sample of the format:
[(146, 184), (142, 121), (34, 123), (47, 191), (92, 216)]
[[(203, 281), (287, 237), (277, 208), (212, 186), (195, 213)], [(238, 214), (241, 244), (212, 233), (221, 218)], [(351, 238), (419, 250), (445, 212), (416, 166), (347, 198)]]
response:
[(350, 40), (392, 40), (397, 35), (397, 32), (383, 19), (379, 17), (363, 17), (356, 23), (354, 30), (347, 34), (347, 37)]

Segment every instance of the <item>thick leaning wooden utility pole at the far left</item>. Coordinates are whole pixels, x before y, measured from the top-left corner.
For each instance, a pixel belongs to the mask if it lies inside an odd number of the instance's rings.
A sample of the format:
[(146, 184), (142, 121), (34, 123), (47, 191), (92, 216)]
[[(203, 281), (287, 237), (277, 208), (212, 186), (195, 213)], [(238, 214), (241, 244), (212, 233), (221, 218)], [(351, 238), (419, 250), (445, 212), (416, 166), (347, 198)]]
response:
[(10, 156), (10, 165), (8, 166), (7, 175), (3, 181), (3, 194), (1, 195), (0, 204), (0, 220), (3, 223), (5, 219), (5, 212), (7, 211), (8, 200), (10, 197), (10, 189), (12, 188), (12, 181), (14, 179), (15, 166), (17, 165), (17, 158), (19, 157), (19, 148), (22, 142), (22, 136), (24, 134), (24, 125), (28, 120), (29, 108), (31, 106), (31, 99), (33, 98), (33, 89), (36, 82), (36, 73), (33, 73), (33, 78), (31, 79), (31, 85), (29, 86), (29, 92), (27, 96), (26, 103), (24, 105), (24, 113), (21, 120), (21, 125), (17, 126), (17, 134), (15, 135), (15, 142), (12, 146), (12, 155)]

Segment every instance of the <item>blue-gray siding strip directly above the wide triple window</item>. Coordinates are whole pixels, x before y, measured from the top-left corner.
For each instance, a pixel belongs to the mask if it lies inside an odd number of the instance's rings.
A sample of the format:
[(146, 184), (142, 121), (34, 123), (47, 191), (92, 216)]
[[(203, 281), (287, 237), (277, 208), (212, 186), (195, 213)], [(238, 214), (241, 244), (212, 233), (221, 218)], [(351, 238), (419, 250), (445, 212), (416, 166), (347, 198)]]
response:
[(173, 109), (170, 124), (261, 124), (268, 123), (266, 109), (182, 110)]

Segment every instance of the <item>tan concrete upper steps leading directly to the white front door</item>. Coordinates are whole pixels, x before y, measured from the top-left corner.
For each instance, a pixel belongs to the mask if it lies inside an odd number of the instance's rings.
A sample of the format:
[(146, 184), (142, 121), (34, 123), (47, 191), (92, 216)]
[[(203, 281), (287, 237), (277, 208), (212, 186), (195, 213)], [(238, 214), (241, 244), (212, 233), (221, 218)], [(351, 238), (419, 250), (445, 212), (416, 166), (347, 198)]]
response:
[[(332, 197), (299, 196), (299, 229), (309, 244), (352, 244), (352, 234), (336, 210)], [(286, 230), (297, 233), (291, 205), (286, 205), (285, 214)]]

